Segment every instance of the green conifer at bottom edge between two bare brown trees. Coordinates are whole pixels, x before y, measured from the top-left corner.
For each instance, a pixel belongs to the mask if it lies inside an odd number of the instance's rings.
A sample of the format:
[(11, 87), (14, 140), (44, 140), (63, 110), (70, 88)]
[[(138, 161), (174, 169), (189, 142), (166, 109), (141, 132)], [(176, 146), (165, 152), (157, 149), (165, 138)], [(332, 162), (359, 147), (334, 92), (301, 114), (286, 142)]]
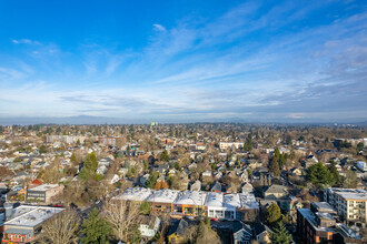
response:
[(81, 225), (81, 233), (85, 237), (81, 238), (83, 244), (106, 244), (109, 243), (108, 237), (112, 233), (111, 224), (100, 216), (99, 211), (93, 209), (89, 218), (85, 220)]

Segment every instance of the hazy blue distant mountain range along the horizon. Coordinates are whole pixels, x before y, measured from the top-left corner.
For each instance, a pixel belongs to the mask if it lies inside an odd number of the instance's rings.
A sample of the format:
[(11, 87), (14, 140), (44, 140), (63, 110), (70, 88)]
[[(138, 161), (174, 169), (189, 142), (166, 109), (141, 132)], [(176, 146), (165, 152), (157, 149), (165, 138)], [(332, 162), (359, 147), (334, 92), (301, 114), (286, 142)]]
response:
[(300, 121), (295, 119), (287, 119), (282, 121), (256, 121), (256, 120), (245, 120), (241, 118), (227, 118), (227, 119), (204, 119), (198, 121), (187, 120), (187, 121), (173, 121), (167, 119), (129, 119), (129, 118), (108, 118), (108, 116), (65, 116), (65, 118), (0, 118), (0, 125), (28, 125), (28, 124), (148, 124), (151, 121), (158, 121), (159, 123), (279, 123), (279, 124), (353, 124), (353, 125), (367, 125), (367, 121), (361, 122), (317, 122), (317, 121)]

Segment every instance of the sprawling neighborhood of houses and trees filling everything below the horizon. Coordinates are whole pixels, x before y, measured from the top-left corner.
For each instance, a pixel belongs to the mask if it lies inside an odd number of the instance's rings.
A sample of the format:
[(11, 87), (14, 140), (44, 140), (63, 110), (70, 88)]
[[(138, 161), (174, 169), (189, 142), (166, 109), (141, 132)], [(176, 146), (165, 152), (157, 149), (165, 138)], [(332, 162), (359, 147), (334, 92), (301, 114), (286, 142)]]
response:
[(86, 242), (90, 230), (111, 243), (366, 242), (366, 128), (44, 124), (0, 132), (2, 243), (58, 243), (54, 221), (68, 226), (65, 243)]

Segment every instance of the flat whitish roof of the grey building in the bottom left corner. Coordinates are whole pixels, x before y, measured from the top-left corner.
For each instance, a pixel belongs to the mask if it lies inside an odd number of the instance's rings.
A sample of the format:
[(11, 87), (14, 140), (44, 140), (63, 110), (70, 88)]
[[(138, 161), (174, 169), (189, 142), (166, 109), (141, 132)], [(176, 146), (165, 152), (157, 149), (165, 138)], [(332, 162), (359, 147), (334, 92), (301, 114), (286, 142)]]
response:
[(61, 207), (38, 206), (28, 213), (7, 221), (4, 225), (34, 227), (43, 221), (52, 217), (54, 214), (62, 212), (63, 210), (65, 209)]

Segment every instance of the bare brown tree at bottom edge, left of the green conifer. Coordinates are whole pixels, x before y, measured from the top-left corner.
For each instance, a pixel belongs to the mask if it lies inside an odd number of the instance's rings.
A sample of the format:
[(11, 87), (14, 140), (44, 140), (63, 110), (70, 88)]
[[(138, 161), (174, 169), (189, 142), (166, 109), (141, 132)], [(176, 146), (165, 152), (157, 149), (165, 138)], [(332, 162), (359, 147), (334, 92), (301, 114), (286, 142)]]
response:
[(41, 243), (69, 244), (78, 243), (79, 230), (78, 214), (66, 210), (47, 220), (42, 226)]

